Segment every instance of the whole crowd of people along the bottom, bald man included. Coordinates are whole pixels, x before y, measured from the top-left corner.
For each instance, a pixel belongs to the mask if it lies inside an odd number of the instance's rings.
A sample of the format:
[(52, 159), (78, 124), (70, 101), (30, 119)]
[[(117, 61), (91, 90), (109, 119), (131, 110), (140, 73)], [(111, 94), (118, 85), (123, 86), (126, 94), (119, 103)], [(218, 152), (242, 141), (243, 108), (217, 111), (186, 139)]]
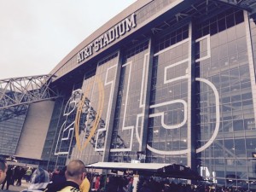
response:
[[(15, 172), (14, 170), (18, 170)], [(21, 172), (21, 173), (20, 173)], [(4, 160), (0, 160), (0, 184), (20, 184), (21, 178), (26, 178), (30, 185), (22, 192), (251, 192), (253, 189), (232, 188), (217, 186), (214, 184), (198, 183), (174, 183), (169, 179), (159, 177), (141, 177), (137, 184), (134, 184), (132, 176), (118, 175), (86, 175), (84, 163), (81, 160), (72, 160), (67, 166), (55, 172), (47, 172), (42, 168), (32, 170), (22, 167), (7, 166)], [(9, 181), (9, 182), (8, 182)], [(134, 186), (136, 185), (136, 186)]]

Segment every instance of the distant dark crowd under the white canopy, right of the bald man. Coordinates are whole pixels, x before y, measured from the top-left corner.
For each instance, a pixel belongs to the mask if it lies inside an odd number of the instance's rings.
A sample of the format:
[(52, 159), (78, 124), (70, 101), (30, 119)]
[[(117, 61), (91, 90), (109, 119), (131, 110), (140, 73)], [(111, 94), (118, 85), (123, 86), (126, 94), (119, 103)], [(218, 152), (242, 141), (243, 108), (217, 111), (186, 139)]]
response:
[[(90, 177), (90, 176), (89, 176)], [(92, 189), (97, 192), (132, 192), (133, 177), (117, 175), (99, 175), (92, 178)], [(140, 177), (137, 192), (256, 192), (241, 187), (225, 187), (211, 183), (197, 184), (174, 183), (160, 177)]]

